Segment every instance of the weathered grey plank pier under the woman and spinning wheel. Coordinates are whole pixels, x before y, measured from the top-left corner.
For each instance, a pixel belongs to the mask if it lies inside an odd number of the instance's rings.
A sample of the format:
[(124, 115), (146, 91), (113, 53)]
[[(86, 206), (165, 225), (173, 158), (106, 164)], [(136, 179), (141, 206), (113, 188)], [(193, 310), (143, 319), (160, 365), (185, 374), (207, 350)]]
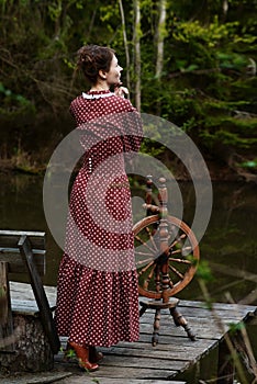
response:
[[(55, 305), (56, 289), (45, 287), (51, 305)], [(29, 285), (11, 283), (12, 307), (35, 306), (34, 296)], [(181, 375), (193, 370), (212, 353), (212, 364), (206, 370), (210, 376), (217, 373), (219, 352), (224, 336), (231, 324), (250, 320), (256, 316), (256, 308), (247, 305), (215, 303), (213, 309), (206, 308), (202, 302), (180, 301), (179, 312), (187, 318), (197, 336), (192, 341), (182, 327), (176, 327), (168, 310), (161, 310), (159, 342), (152, 346), (154, 312), (147, 310), (141, 317), (141, 338), (137, 342), (120, 342), (115, 347), (102, 348), (104, 359), (100, 369), (93, 373), (82, 373), (75, 361), (65, 362), (63, 353), (55, 357), (55, 368), (47, 373), (29, 374), (4, 379), (4, 384), (12, 383), (100, 383), (100, 384), (165, 384), (186, 383)], [(256, 318), (256, 317), (255, 317)], [(65, 339), (62, 340), (65, 347)], [(214, 363), (215, 362), (215, 363)], [(52, 377), (52, 379), (51, 379)], [(71, 380), (72, 377), (72, 380)], [(38, 381), (36, 381), (38, 379)], [(22, 381), (23, 380), (23, 381)], [(98, 381), (97, 381), (98, 380)], [(1, 380), (0, 380), (1, 382)]]

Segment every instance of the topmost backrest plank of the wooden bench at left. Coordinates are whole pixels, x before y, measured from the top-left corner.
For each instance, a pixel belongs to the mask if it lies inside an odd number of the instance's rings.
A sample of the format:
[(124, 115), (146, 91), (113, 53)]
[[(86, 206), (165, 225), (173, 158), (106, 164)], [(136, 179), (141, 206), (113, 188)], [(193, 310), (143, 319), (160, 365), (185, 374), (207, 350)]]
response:
[(24, 230), (0, 230), (0, 249), (1, 247), (16, 248), (21, 236), (29, 236), (32, 248), (45, 249), (44, 231), (24, 231)]

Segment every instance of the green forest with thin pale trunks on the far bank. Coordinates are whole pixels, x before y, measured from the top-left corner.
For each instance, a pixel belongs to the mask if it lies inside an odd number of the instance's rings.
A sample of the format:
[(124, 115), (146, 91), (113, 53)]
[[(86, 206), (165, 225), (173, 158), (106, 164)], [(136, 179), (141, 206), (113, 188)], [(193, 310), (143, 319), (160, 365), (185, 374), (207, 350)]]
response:
[(115, 49), (132, 103), (182, 128), (212, 179), (257, 182), (257, 0), (0, 0), (0, 13), (2, 169), (45, 169), (88, 87), (77, 50), (98, 44)]

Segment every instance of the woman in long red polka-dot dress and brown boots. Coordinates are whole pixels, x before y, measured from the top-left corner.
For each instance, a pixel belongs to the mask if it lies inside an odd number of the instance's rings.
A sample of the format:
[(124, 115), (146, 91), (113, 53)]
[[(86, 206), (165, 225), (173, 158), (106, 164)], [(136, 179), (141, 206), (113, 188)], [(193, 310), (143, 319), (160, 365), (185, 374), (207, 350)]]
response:
[[(96, 346), (138, 339), (131, 193), (125, 157), (138, 151), (139, 114), (120, 87), (114, 50), (96, 45), (78, 52), (78, 68), (91, 83), (70, 104), (83, 165), (72, 185), (65, 252), (59, 266), (56, 326), (82, 369), (102, 358)], [(110, 88), (114, 88), (114, 92)]]

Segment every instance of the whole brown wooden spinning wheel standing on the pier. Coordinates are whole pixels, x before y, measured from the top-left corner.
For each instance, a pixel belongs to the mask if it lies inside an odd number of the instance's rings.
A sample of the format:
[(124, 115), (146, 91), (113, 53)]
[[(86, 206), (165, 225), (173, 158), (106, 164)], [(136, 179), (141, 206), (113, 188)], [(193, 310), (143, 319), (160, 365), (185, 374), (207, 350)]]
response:
[(159, 179), (158, 206), (152, 205), (152, 184), (148, 177), (144, 204), (147, 216), (133, 227), (138, 292), (141, 296), (152, 298), (141, 302), (139, 315), (147, 308), (156, 310), (153, 346), (158, 342), (161, 308), (169, 308), (175, 324), (181, 325), (188, 337), (195, 340), (188, 323), (177, 310), (179, 300), (170, 297), (183, 290), (197, 271), (200, 259), (198, 241), (186, 223), (168, 215), (166, 180)]

